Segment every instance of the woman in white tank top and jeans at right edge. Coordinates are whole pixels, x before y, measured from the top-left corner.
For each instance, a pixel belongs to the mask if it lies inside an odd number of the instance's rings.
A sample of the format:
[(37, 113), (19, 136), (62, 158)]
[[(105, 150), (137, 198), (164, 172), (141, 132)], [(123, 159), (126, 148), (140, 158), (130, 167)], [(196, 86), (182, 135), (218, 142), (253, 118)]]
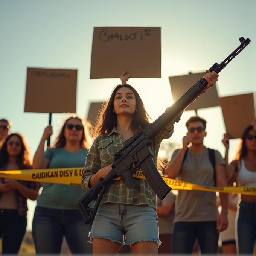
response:
[[(226, 155), (229, 150), (229, 135), (222, 140)], [(256, 119), (242, 134), (235, 160), (227, 166), (228, 183), (256, 187)], [(256, 242), (256, 195), (240, 195), (235, 220), (236, 247), (239, 254), (253, 255)]]

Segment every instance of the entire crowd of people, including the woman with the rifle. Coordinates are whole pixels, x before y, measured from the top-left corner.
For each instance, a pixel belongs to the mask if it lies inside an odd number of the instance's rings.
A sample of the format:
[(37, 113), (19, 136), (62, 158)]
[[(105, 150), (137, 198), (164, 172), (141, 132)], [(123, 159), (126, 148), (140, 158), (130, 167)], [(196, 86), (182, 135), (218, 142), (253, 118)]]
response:
[[(129, 250), (136, 255), (192, 254), (195, 247), (201, 254), (216, 254), (221, 234), (224, 254), (253, 255), (254, 195), (238, 198), (219, 193), (217, 198), (214, 192), (183, 190), (171, 191), (161, 201), (146, 180), (135, 179), (139, 187), (135, 190), (118, 177), (108, 185), (92, 227), (84, 223), (76, 201), (110, 172), (114, 154), (125, 141), (150, 124), (142, 99), (126, 84), (130, 75), (124, 72), (120, 78), (122, 85), (114, 88), (93, 128), (74, 115), (64, 122), (52, 147), (44, 151), (45, 141), (52, 135), (52, 126), (47, 126), (33, 161), (24, 137), (12, 133), (11, 122), (0, 120), (0, 171), (85, 166), (82, 187), (0, 178), (2, 254), (17, 254), (20, 249), (29, 198), (37, 200), (32, 224), (37, 254), (59, 254), (64, 236), (72, 254), (117, 255)], [(218, 75), (207, 70), (204, 78), (210, 88)], [(206, 120), (190, 117), (183, 147), (173, 152), (168, 165), (160, 165), (160, 144), (171, 137), (181, 114), (150, 146), (155, 165), (168, 178), (209, 187), (256, 187), (256, 120), (245, 129), (238, 154), (229, 163), (229, 135), (222, 141), (226, 148), (222, 158), (217, 150), (204, 146)], [(40, 187), (43, 190), (38, 195)]]

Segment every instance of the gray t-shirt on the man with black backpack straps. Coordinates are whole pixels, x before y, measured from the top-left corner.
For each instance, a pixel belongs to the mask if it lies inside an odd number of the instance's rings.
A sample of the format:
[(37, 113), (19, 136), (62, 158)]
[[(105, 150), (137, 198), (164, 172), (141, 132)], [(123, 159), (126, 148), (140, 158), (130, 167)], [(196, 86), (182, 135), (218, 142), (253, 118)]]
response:
[[(177, 155), (177, 149), (172, 154), (172, 160)], [(226, 165), (219, 151), (215, 150), (215, 166)], [(181, 166), (178, 180), (201, 186), (214, 186), (213, 166), (209, 159), (208, 149), (195, 153), (190, 148)], [(216, 193), (207, 191), (180, 190), (175, 206), (174, 222), (217, 221), (219, 216), (216, 205)]]

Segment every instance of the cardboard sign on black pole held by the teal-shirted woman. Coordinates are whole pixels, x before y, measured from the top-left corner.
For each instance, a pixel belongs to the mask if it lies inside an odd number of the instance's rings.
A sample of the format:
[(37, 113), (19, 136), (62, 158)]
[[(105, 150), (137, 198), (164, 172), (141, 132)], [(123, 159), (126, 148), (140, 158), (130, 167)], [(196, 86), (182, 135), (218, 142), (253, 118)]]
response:
[(76, 112), (75, 69), (27, 68), (25, 112)]

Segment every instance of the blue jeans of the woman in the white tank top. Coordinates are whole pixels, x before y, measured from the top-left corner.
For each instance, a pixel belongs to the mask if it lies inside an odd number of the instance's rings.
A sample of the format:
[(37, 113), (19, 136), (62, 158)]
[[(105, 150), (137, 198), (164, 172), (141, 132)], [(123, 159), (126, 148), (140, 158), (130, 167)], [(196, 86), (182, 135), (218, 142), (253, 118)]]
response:
[(236, 216), (236, 241), (239, 254), (253, 255), (256, 240), (256, 203), (241, 201)]

